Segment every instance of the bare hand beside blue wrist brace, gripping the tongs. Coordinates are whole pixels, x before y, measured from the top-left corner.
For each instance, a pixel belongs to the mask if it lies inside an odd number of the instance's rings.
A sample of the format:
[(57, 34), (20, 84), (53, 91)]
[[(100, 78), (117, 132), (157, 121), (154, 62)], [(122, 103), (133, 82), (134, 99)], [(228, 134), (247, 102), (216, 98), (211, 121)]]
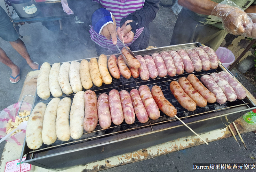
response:
[(108, 40), (112, 38), (113, 44), (116, 44), (116, 41), (117, 41), (116, 20), (113, 15), (112, 15), (112, 19), (113, 19), (114, 25), (112, 23), (109, 23), (108, 25), (104, 26), (100, 34), (105, 36)]

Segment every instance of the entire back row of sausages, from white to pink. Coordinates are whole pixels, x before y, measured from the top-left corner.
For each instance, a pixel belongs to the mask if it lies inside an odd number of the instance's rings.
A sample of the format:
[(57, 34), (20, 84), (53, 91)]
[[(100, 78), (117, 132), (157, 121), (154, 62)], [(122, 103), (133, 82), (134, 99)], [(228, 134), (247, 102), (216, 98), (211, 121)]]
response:
[[(112, 77), (120, 78), (120, 74), (124, 78), (140, 78), (148, 80), (149, 77), (154, 79), (157, 76), (165, 77), (180, 75), (184, 69), (191, 73), (194, 70), (209, 70), (218, 67), (218, 57), (210, 47), (196, 47), (193, 50), (187, 49), (160, 54), (154, 53), (152, 57), (145, 55), (144, 57), (137, 55), (135, 59), (127, 50), (122, 49), (127, 60), (130, 61), (132, 68), (128, 68), (122, 55), (116, 59), (112, 55), (107, 56), (101, 54), (99, 60), (96, 58), (77, 61), (54, 63), (52, 68), (49, 63), (45, 62), (38, 74), (37, 78), (37, 94), (42, 99), (47, 99), (52, 93), (53, 97), (62, 96), (62, 92), (66, 95), (76, 93), (84, 89), (88, 90), (94, 84), (100, 87), (102, 83), (110, 84)], [(108, 71), (109, 70), (109, 71)], [(110, 74), (109, 74), (110, 72)]]

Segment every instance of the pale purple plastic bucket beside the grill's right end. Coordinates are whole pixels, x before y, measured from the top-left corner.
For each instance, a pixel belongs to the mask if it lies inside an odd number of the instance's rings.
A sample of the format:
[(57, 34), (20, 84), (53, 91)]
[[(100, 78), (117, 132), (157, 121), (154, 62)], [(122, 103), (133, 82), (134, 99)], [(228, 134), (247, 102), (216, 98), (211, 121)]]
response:
[(235, 55), (227, 48), (219, 47), (216, 51), (218, 59), (227, 68), (235, 61)]

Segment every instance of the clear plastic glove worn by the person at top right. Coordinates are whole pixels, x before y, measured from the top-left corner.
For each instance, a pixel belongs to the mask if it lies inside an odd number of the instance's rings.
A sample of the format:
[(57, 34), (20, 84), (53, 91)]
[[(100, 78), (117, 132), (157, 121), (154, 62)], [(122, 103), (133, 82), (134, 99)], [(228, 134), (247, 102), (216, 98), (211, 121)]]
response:
[(218, 17), (221, 19), (223, 28), (233, 35), (243, 35), (244, 37), (256, 38), (252, 35), (252, 19), (235, 3), (225, 0), (216, 5), (212, 12), (212, 19)]

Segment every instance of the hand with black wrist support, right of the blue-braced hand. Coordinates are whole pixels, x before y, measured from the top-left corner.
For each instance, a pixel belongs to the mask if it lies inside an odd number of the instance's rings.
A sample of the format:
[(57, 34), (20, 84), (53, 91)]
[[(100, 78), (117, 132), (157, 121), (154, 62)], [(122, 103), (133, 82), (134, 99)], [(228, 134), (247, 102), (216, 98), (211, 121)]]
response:
[(132, 26), (127, 25), (127, 23), (130, 23), (130, 22), (132, 22), (132, 20), (125, 21), (125, 23), (122, 25), (122, 27), (118, 27), (117, 31), (116, 31), (121, 40), (122, 40), (122, 37), (124, 38), (125, 44), (132, 42), (133, 37), (134, 37), (134, 33), (131, 31)]

